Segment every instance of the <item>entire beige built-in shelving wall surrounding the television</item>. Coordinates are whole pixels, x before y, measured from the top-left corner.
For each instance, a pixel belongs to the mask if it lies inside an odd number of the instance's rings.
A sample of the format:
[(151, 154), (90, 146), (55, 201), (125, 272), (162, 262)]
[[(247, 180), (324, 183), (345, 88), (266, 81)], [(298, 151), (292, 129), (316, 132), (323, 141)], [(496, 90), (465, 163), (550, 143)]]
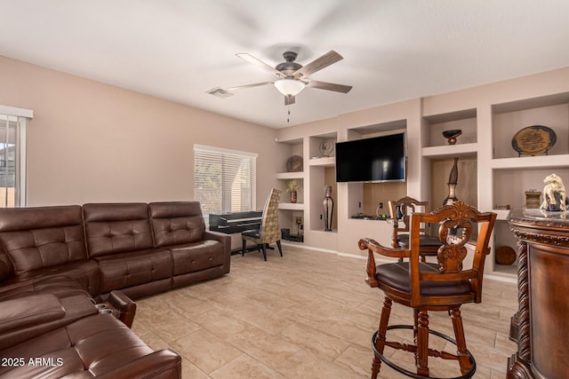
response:
[[(518, 156), (512, 138), (518, 130), (532, 125), (554, 130), (557, 142), (547, 154)], [(396, 130), (405, 130), (407, 134), (404, 193), (386, 191), (389, 186), (381, 184), (334, 183), (334, 211), (338, 219), (333, 233), (324, 232), (323, 187), (331, 184), (329, 174), (334, 170), (335, 159), (322, 157), (320, 143), (328, 138), (335, 142), (371, 138)], [(449, 145), (444, 130), (462, 131), (455, 145)], [(357, 240), (362, 237), (373, 237), (389, 246), (389, 223), (351, 218), (364, 210), (379, 209), (378, 204), (365, 204), (366, 195), (372, 193), (374, 202), (378, 196), (391, 200), (408, 194), (429, 200), (431, 208), (437, 207), (448, 192), (449, 172), (458, 157), (457, 193), (462, 191), (461, 200), (498, 214), (485, 273), (514, 280), (516, 265), (494, 262), (497, 248), (517, 249), (517, 240), (509, 231), (507, 206), (524, 207), (525, 191), (542, 191), (543, 178), (553, 172), (569, 182), (569, 68), (340, 114), (283, 130), (279, 139), (281, 136), (286, 136), (284, 143), (293, 144), (295, 154), (304, 157), (299, 178), (303, 183), (301, 210), (294, 209), (298, 205), (283, 204), (281, 208), (290, 214), (301, 212), (306, 224), (305, 244), (355, 254), (364, 254), (357, 249)], [(291, 178), (289, 175), (278, 174), (277, 181), (284, 183)], [(387, 208), (387, 201), (384, 202)], [(372, 208), (365, 209), (366, 205)]]

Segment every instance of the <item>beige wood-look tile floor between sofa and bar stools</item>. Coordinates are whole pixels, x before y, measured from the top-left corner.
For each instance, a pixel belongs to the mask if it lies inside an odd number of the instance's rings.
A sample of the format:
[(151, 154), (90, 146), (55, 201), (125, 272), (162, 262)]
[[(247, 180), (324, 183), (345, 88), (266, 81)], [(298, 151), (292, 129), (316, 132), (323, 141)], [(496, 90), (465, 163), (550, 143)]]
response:
[[(223, 278), (138, 300), (132, 329), (154, 349), (180, 352), (184, 378), (365, 378), (383, 295), (364, 280), (363, 257), (285, 246), (284, 257), (269, 252), (265, 262), (251, 252), (233, 256)], [(517, 350), (508, 339), (516, 284), (485, 280), (482, 304), (461, 309), (477, 359), (474, 377), (505, 378), (508, 357)], [(412, 314), (394, 304), (390, 324), (409, 324)], [(445, 312), (429, 316), (431, 327), (452, 336)], [(412, 338), (409, 331), (398, 334)], [(446, 344), (431, 343), (436, 349)], [(386, 355), (413, 369), (411, 354), (386, 349)], [(429, 362), (431, 375), (460, 375), (454, 363)], [(405, 376), (384, 364), (380, 377)]]

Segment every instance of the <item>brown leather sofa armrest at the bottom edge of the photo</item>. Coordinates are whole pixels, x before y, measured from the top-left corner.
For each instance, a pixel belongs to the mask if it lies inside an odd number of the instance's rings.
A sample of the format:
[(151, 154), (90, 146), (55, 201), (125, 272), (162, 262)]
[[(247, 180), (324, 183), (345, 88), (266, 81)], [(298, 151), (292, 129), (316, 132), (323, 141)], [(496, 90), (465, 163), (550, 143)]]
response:
[(154, 351), (144, 357), (124, 363), (107, 373), (97, 374), (100, 379), (115, 378), (181, 378), (181, 357), (173, 350)]

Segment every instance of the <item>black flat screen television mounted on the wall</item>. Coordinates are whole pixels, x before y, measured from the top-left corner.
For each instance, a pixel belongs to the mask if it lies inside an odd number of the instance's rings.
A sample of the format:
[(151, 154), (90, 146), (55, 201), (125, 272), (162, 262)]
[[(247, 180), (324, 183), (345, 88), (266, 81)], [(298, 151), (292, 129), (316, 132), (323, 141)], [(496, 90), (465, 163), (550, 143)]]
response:
[(336, 182), (405, 181), (405, 133), (336, 143)]

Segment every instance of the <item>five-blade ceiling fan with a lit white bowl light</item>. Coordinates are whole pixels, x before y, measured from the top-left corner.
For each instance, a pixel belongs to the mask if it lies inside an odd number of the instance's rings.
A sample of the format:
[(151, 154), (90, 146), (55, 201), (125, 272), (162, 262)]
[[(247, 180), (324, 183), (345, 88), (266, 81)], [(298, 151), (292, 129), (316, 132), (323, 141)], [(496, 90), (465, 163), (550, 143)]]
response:
[(295, 51), (284, 51), (284, 62), (279, 63), (276, 67), (268, 66), (267, 63), (256, 59), (250, 54), (238, 53), (237, 57), (252, 63), (255, 66), (263, 68), (278, 78), (273, 82), (252, 83), (240, 85), (237, 87), (228, 88), (228, 91), (242, 90), (245, 88), (259, 87), (260, 85), (274, 84), (276, 89), (284, 95), (284, 105), (289, 106), (294, 104), (294, 97), (299, 94), (305, 87), (317, 88), (319, 90), (336, 91), (348, 93), (352, 89), (351, 85), (343, 85), (336, 83), (320, 82), (317, 80), (309, 79), (309, 75), (320, 71), (321, 69), (332, 65), (343, 59), (343, 57), (336, 51), (328, 51), (320, 58), (314, 59), (306, 66), (296, 63), (294, 60), (297, 57)]

